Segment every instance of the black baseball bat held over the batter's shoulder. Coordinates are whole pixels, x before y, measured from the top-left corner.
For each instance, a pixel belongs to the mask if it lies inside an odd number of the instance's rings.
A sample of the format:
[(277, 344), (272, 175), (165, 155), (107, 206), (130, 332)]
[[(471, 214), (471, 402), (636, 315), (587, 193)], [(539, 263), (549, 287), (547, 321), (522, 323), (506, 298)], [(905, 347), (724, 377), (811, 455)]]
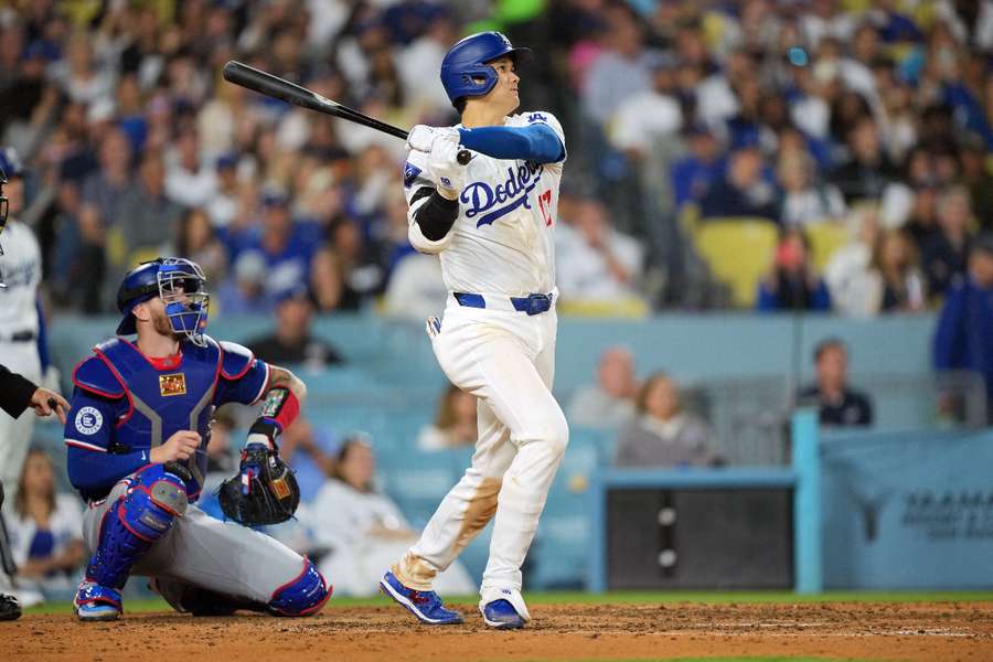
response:
[[(355, 124), (361, 124), (363, 126), (376, 129), (377, 131), (383, 131), (384, 134), (388, 134), (397, 138), (403, 138), (404, 140), (407, 139), (408, 132), (399, 127), (386, 124), (385, 121), (380, 121), (378, 119), (360, 113), (354, 108), (349, 108), (348, 106), (343, 106), (338, 102), (332, 102), (331, 99), (323, 97), (316, 92), (297, 85), (296, 83), (290, 83), (286, 78), (280, 78), (279, 76), (259, 71), (253, 66), (248, 66), (245, 63), (232, 60), (224, 65), (223, 75), (224, 79), (228, 83), (241, 85), (242, 87), (246, 87), (253, 92), (257, 92), (259, 94), (284, 100), (287, 104), (292, 104), (295, 106), (300, 106), (301, 108), (308, 108), (310, 110), (317, 110), (318, 113), (323, 113), (324, 115), (331, 115), (332, 117), (338, 117), (340, 119), (346, 119), (349, 121), (354, 121)], [(469, 154), (469, 150), (462, 149), (459, 150), (459, 153), (456, 158), (461, 166), (465, 166), (469, 162), (471, 156)]]

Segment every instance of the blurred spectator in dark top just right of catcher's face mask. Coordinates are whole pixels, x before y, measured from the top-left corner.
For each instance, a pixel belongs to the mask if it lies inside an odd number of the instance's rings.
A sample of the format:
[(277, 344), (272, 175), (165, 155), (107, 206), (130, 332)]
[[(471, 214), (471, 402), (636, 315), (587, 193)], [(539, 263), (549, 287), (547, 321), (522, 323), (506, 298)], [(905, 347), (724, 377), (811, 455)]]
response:
[(310, 334), (312, 314), (313, 305), (307, 287), (292, 287), (276, 298), (276, 330), (246, 344), (256, 356), (277, 365), (302, 365), (307, 370), (322, 371), (343, 363), (338, 350)]

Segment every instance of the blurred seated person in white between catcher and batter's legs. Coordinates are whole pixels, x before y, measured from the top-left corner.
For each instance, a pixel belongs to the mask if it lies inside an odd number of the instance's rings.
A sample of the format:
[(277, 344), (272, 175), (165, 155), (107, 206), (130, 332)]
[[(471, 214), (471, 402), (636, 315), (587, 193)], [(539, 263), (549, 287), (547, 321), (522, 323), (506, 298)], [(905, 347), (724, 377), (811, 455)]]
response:
[[(317, 543), (331, 548), (319, 569), (335, 578), (334, 591), (340, 595), (374, 595), (383, 568), (418, 537), (396, 503), (375, 489), (375, 472), (376, 458), (369, 444), (356, 437), (346, 439), (335, 458), (334, 476), (308, 511)], [(447, 595), (468, 595), (477, 587), (456, 562), (435, 577), (434, 588)]]

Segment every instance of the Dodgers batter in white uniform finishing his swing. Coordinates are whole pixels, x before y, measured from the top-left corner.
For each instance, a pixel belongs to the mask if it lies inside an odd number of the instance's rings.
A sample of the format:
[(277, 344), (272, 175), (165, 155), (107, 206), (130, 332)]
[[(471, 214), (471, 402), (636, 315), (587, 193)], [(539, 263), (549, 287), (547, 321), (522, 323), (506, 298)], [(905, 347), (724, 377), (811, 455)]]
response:
[[(568, 444), (551, 391), (565, 139), (548, 113), (510, 115), (520, 103), (516, 67), (530, 58), (499, 32), (463, 39), (441, 64), (461, 124), (415, 127), (408, 138), (410, 243), (439, 255), (449, 290), (444, 319), (428, 319), (428, 335), (448, 378), (479, 398), (472, 466), (381, 581), (427, 623), (461, 622), (431, 581), (494, 514), (480, 612), (501, 629), (531, 619), (521, 565)], [(461, 147), (472, 152), (466, 167), (457, 162)]]

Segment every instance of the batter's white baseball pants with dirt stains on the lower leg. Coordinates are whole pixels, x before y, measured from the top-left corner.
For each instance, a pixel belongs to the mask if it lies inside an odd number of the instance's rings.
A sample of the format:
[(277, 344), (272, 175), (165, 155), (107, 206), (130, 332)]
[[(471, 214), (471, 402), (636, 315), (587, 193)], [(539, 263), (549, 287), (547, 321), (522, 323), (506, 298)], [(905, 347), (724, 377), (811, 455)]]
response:
[(440, 332), (429, 323), (441, 370), (479, 398), (479, 439), (472, 465), (393, 567), (404, 585), (429, 590), (495, 513), (480, 591), (521, 590), (521, 565), (569, 438), (551, 391), (556, 325), (554, 307), (527, 316), (461, 307), (451, 296)]

